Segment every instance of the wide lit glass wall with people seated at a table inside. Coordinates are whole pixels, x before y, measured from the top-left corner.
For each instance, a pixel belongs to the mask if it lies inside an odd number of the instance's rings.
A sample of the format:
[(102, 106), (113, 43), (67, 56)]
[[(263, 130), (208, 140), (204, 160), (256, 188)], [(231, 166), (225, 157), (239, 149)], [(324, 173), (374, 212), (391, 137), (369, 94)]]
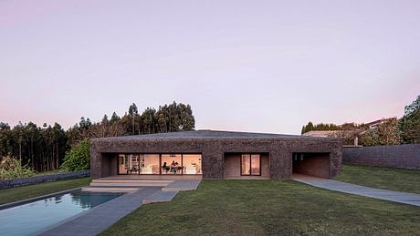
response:
[(118, 173), (201, 175), (201, 154), (120, 154)]

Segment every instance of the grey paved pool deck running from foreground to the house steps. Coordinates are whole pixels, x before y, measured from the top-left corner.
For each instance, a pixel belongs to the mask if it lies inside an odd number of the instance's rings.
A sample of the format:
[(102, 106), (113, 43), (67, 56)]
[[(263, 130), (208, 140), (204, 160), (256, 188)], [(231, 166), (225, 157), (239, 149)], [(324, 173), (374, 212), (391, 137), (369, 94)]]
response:
[(91, 210), (82, 212), (68, 220), (61, 221), (38, 235), (96, 235), (130, 214), (131, 211), (141, 207), (142, 204), (170, 201), (178, 191), (195, 190), (200, 182), (201, 180), (175, 180), (171, 187), (173, 191), (163, 191), (162, 187), (142, 187), (100, 204)]

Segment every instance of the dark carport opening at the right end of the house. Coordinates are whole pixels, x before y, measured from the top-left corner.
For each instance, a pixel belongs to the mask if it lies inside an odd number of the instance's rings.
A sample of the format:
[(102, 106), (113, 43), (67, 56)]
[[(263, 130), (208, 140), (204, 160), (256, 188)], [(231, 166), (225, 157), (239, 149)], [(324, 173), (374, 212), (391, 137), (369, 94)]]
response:
[(330, 178), (330, 153), (294, 152), (293, 174)]

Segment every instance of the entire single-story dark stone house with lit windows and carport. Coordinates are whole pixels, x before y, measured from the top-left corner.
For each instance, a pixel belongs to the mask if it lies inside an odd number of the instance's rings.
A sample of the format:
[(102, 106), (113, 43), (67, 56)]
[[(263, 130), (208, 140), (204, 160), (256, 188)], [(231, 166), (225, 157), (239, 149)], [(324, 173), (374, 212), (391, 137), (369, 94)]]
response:
[(332, 178), (341, 140), (194, 130), (91, 139), (93, 179), (116, 175), (199, 175), (203, 179), (288, 180), (293, 173)]

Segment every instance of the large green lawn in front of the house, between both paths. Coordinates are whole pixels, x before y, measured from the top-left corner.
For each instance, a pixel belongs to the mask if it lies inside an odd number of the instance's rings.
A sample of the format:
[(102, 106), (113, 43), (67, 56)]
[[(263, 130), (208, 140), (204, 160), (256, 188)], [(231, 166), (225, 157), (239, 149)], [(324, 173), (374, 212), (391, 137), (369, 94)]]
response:
[(101, 235), (414, 235), (420, 208), (292, 180), (203, 180)]

